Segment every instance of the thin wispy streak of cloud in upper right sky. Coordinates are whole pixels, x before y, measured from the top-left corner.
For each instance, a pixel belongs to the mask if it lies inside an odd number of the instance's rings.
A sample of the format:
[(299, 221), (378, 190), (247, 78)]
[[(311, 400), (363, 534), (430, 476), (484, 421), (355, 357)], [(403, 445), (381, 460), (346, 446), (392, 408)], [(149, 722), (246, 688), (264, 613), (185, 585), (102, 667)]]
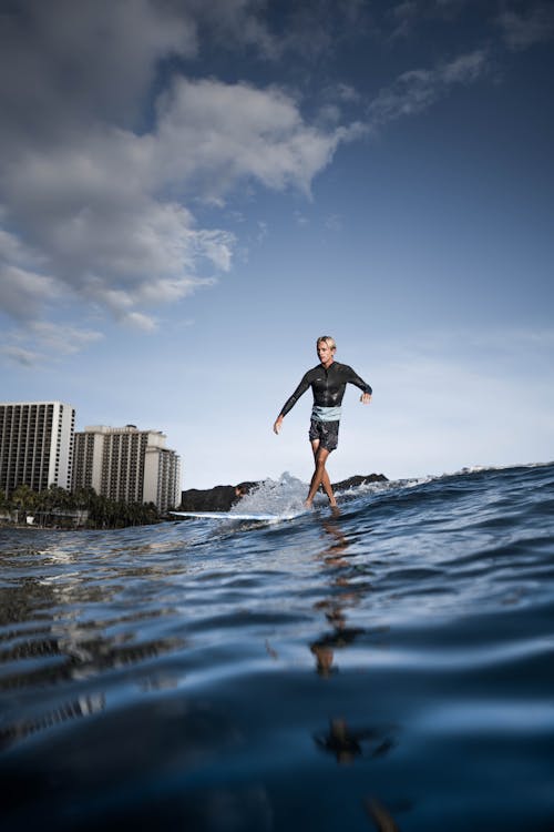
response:
[(376, 129), (398, 119), (428, 110), (447, 95), (454, 84), (469, 84), (489, 69), (488, 53), (476, 50), (434, 69), (404, 72), (391, 87), (380, 91), (368, 109), (369, 123)]

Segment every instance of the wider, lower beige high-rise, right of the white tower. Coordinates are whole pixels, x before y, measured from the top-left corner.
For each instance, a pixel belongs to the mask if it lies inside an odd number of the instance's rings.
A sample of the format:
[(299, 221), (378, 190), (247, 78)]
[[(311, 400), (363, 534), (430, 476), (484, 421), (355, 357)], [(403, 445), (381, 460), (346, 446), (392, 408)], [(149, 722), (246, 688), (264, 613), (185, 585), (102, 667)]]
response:
[(72, 487), (125, 503), (154, 503), (160, 511), (181, 501), (181, 461), (161, 430), (94, 425), (75, 434)]

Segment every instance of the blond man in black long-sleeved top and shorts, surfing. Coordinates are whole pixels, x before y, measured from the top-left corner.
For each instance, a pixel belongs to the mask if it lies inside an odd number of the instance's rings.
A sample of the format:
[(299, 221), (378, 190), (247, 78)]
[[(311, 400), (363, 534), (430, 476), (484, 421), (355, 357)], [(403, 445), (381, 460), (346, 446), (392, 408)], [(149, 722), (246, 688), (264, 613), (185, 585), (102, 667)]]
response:
[(316, 469), (311, 477), (308, 497), (306, 499), (307, 508), (311, 508), (314, 497), (320, 485), (329, 498), (329, 504), (335, 507), (337, 500), (332, 493), (329, 475), (325, 464), (327, 457), (335, 450), (338, 444), (339, 422), (341, 413), (342, 396), (347, 383), (355, 384), (362, 390), (360, 402), (368, 405), (371, 400), (372, 389), (359, 375), (357, 375), (347, 364), (339, 364), (335, 361), (337, 345), (329, 335), (321, 335), (317, 339), (317, 354), (320, 361), (312, 369), (309, 369), (296, 390), (285, 403), (281, 412), (274, 424), (274, 430), (279, 433), (283, 419), (287, 413), (295, 406), (300, 396), (311, 387), (314, 393), (314, 407), (311, 410), (311, 422), (309, 429), (309, 439), (314, 451), (314, 461)]

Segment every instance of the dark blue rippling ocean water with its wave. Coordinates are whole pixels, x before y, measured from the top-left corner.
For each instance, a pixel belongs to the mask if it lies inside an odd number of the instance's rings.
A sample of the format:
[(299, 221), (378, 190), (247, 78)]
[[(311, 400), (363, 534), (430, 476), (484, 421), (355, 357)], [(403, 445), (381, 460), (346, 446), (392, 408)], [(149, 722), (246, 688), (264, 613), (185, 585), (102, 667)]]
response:
[(340, 508), (1, 530), (0, 828), (554, 830), (554, 465)]

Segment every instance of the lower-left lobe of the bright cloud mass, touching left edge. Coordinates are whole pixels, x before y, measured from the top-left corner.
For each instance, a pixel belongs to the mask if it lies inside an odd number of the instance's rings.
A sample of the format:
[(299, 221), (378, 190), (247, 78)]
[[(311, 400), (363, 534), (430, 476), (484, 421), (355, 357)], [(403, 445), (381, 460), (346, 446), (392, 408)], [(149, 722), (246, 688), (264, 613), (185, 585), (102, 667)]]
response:
[[(205, 284), (196, 277), (202, 260), (229, 268), (233, 235), (196, 229), (185, 207), (153, 195), (156, 171), (141, 150), (136, 136), (106, 130), (89, 144), (32, 151), (10, 165), (4, 193), (24, 239), (3, 234), (4, 311), (37, 314), (64, 286), (117, 313), (189, 294)], [(10, 264), (33, 251), (55, 278)]]

